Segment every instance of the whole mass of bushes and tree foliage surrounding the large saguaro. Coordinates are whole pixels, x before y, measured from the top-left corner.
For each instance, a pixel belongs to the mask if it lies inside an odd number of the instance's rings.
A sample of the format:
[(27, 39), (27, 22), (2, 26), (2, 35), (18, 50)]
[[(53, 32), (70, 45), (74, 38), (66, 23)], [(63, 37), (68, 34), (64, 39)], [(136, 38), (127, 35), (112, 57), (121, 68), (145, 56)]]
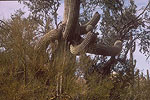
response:
[(135, 69), (133, 56), (139, 45), (149, 57), (149, 4), (138, 16), (132, 0), (128, 6), (123, 0), (81, 0), (80, 23), (101, 9), (96, 41), (108, 46), (123, 41), (115, 58), (72, 55), (58, 41), (37, 52), (34, 47), (41, 37), (59, 27), (57, 10), (63, 2), (24, 4), (29, 16), (18, 10), (10, 19), (0, 20), (0, 100), (149, 100), (149, 71), (144, 76)]

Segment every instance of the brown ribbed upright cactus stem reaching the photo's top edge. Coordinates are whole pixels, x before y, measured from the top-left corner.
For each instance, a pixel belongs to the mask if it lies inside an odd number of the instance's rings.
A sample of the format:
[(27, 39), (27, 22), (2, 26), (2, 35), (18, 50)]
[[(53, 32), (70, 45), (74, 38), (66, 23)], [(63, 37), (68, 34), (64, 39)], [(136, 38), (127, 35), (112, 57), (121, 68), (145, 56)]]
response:
[(69, 15), (63, 32), (63, 38), (65, 40), (70, 39), (76, 30), (76, 25), (78, 24), (79, 10), (80, 10), (80, 0), (68, 0), (69, 1)]

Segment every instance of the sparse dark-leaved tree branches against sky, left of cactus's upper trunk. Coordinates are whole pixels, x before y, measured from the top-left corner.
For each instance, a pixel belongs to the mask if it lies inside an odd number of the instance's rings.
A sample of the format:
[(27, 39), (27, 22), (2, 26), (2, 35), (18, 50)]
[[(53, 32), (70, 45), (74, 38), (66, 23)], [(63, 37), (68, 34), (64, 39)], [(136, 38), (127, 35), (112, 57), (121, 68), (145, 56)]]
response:
[[(61, 5), (61, 0), (29, 0), (29, 2), (24, 2), (24, 4), (30, 9), (32, 17), (35, 18), (37, 22), (43, 20), (41, 24), (44, 32), (47, 32), (47, 26), (50, 22), (55, 24), (58, 28), (58, 8)], [(53, 25), (54, 26), (54, 25)]]

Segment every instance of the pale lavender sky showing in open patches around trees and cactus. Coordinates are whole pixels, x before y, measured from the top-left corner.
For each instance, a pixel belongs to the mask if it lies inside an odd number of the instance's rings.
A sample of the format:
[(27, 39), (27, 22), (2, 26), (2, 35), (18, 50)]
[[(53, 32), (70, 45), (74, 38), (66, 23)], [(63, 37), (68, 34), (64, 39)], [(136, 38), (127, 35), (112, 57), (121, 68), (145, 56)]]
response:
[[(127, 2), (128, 0), (125, 0)], [(145, 7), (147, 5), (148, 0), (134, 0), (135, 4), (138, 6), (137, 9), (141, 7)], [(58, 9), (59, 18), (61, 19), (63, 16), (63, 7), (62, 4)], [(0, 19), (9, 19), (10, 16), (17, 11), (18, 9), (22, 9), (29, 13), (28, 8), (25, 7), (22, 3), (18, 3), (17, 1), (0, 1)], [(140, 11), (139, 11), (140, 12)], [(138, 14), (138, 13), (137, 13)], [(139, 52), (139, 47), (134, 53), (134, 59), (137, 60), (136, 68), (140, 69), (140, 71), (146, 73), (146, 70), (150, 70), (150, 61), (146, 60), (146, 57)]]

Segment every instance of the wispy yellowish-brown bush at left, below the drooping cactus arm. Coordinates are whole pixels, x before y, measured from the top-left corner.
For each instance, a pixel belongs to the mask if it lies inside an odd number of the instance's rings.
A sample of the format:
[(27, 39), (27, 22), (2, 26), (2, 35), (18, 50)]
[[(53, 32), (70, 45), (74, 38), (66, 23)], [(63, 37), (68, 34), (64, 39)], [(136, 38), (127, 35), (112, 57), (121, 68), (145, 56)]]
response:
[[(0, 27), (0, 99), (46, 100), (56, 96), (57, 77), (63, 77), (63, 92), (72, 95), (78, 90), (75, 66), (66, 53), (57, 53), (55, 60), (48, 52), (34, 51), (38, 26), (32, 17), (18, 11)], [(59, 48), (63, 52), (63, 48)], [(69, 67), (68, 67), (69, 66)]]

